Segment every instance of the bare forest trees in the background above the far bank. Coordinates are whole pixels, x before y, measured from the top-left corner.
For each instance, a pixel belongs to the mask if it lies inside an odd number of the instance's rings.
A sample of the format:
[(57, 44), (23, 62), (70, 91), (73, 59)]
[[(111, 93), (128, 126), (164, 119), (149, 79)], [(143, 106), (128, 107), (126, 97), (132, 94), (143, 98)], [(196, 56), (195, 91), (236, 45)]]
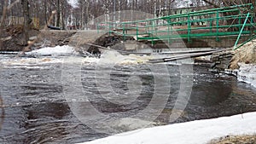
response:
[[(25, 4), (22, 3), (28, 3), (28, 7), (25, 8)], [(179, 7), (212, 6), (218, 8), (241, 3), (255, 2), (253, 0), (77, 0), (74, 6), (70, 0), (0, 0), (0, 15), (2, 15), (2, 26), (15, 23), (14, 20), (11, 20), (13, 17), (15, 17), (15, 21), (17, 19), (24, 21), (24, 17), (28, 17), (29, 22), (34, 20), (38, 28), (43, 28), (52, 11), (55, 11), (50, 25), (62, 29), (67, 29), (67, 25), (86, 29), (88, 21), (115, 11), (136, 10), (154, 14), (157, 17), (161, 15), (162, 10), (165, 10), (166, 14), (171, 14), (172, 9)], [(4, 10), (5, 8), (7, 10)], [(26, 10), (28, 14), (26, 14)], [(3, 15), (5, 16), (3, 17)]]

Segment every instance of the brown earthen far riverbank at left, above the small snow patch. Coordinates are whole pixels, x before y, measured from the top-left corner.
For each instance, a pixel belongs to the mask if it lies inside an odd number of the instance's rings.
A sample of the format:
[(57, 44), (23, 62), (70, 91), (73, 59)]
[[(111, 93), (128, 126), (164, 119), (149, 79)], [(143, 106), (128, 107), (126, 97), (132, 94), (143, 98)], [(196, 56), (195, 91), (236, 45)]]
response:
[(77, 31), (54, 31), (54, 30), (38, 30), (31, 27), (29, 41), (24, 42), (22, 26), (8, 26), (2, 28), (0, 33), (0, 51), (23, 51), (27, 43), (33, 43), (30, 51), (44, 47), (55, 47), (67, 45)]

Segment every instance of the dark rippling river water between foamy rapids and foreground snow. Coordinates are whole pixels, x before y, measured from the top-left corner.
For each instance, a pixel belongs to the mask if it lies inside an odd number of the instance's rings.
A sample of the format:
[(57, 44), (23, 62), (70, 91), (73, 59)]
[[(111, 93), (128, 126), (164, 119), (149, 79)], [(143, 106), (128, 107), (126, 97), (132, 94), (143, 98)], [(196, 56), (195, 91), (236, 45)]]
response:
[(256, 111), (256, 89), (207, 66), (184, 74), (191, 65), (109, 67), (51, 58), (20, 64), (21, 58), (0, 56), (0, 143), (76, 143), (145, 125)]

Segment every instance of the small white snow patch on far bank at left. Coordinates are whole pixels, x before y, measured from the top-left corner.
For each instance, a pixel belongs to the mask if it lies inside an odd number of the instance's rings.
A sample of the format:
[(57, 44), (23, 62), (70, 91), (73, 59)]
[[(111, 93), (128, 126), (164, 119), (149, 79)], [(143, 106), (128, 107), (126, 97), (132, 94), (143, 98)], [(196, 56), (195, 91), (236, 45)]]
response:
[(68, 45), (56, 46), (56, 47), (45, 47), (42, 49), (33, 50), (27, 52), (26, 55), (68, 55), (75, 54), (73, 47)]

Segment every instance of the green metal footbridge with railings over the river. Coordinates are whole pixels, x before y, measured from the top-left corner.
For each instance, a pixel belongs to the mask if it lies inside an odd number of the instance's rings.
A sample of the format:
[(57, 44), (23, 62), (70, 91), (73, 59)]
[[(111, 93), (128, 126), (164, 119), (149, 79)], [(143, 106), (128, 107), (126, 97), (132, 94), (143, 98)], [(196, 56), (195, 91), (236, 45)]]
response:
[[(234, 49), (255, 38), (256, 20), (252, 3), (207, 9), (187, 14), (167, 15), (154, 19), (101, 22), (98, 31), (119, 36), (135, 37), (137, 41), (172, 43), (177, 39), (212, 37), (218, 42), (221, 37), (237, 37)], [(246, 42), (237, 45), (240, 37), (247, 36)]]

